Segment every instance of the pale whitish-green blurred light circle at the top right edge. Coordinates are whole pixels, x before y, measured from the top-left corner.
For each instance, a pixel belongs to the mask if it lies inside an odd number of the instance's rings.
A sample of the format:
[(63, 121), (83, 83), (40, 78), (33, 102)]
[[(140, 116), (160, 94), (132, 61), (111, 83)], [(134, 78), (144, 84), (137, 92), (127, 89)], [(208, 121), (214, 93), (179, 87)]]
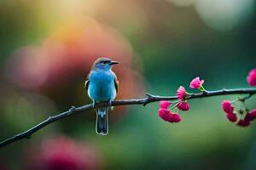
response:
[(226, 31), (252, 19), (254, 3), (253, 0), (197, 0), (195, 8), (208, 26)]

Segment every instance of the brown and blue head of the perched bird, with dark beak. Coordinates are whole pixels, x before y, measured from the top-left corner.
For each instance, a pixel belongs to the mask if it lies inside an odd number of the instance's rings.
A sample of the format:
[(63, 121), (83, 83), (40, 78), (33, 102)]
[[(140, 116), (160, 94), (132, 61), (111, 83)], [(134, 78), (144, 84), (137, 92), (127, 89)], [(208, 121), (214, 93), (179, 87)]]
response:
[(119, 64), (119, 62), (113, 61), (108, 58), (99, 58), (96, 59), (96, 61), (92, 65), (92, 70), (109, 71), (112, 68), (112, 66), (116, 64)]

